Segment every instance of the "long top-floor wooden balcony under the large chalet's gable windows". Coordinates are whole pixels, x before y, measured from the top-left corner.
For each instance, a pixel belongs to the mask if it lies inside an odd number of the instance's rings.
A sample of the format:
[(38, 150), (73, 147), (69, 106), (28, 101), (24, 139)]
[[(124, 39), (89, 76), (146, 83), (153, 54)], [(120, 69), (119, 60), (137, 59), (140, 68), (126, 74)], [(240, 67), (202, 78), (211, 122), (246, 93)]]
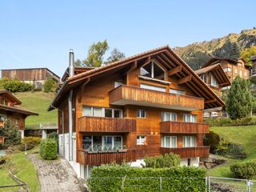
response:
[(110, 91), (110, 104), (118, 106), (151, 106), (175, 110), (204, 109), (203, 98), (125, 85), (118, 86)]

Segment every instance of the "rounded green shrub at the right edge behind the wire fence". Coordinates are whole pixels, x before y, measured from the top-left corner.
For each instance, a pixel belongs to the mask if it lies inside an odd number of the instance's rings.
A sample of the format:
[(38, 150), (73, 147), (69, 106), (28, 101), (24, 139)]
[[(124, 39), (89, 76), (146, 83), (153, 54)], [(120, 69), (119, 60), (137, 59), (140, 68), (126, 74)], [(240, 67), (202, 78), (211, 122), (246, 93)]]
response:
[(236, 162), (230, 166), (230, 170), (236, 178), (253, 178), (256, 176), (256, 161)]

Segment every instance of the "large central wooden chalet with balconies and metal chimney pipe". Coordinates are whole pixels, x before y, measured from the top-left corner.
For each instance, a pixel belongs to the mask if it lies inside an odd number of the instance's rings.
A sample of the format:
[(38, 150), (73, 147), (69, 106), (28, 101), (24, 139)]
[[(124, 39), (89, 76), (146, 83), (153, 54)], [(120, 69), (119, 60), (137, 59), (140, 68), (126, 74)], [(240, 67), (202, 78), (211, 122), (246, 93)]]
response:
[(49, 110), (58, 108), (59, 152), (82, 178), (110, 162), (141, 166), (146, 155), (174, 153), (184, 166), (209, 156), (203, 110), (222, 99), (169, 46), (69, 77)]

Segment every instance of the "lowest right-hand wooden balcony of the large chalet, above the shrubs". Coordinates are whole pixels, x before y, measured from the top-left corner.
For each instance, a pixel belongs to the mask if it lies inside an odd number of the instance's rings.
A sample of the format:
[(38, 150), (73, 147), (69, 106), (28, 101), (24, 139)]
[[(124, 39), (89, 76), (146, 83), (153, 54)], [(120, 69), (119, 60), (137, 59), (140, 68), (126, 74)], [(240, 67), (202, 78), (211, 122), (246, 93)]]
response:
[(180, 158), (208, 158), (210, 146), (196, 146), (196, 147), (180, 147), (180, 148), (160, 148), (160, 154), (179, 154)]

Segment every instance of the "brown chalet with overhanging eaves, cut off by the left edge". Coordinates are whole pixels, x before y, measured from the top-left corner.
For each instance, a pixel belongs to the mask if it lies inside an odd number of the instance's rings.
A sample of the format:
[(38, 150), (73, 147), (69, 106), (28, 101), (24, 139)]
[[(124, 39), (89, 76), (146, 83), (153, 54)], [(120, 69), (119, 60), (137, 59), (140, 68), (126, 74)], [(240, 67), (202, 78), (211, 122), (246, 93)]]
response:
[[(19, 105), (21, 104), (22, 102), (8, 90), (0, 90), (0, 130), (3, 128), (6, 120), (10, 120), (14, 122), (18, 130), (20, 130), (23, 138), (26, 117), (38, 114), (20, 107)], [(4, 138), (0, 134), (0, 142), (3, 141)]]

